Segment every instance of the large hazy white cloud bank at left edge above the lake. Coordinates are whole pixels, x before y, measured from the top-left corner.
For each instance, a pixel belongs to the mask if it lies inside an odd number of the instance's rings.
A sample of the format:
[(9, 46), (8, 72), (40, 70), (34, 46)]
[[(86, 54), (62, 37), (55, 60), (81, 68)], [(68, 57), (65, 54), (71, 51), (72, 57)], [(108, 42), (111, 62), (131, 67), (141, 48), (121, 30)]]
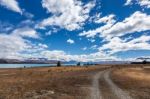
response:
[[(37, 39), (38, 34), (30, 28), (16, 29), (10, 34), (0, 34), (0, 58), (22, 58), (29, 53), (47, 48), (46, 45), (35, 45), (28, 38)], [(34, 51), (33, 51), (34, 50)], [(22, 53), (23, 52), (23, 53)]]

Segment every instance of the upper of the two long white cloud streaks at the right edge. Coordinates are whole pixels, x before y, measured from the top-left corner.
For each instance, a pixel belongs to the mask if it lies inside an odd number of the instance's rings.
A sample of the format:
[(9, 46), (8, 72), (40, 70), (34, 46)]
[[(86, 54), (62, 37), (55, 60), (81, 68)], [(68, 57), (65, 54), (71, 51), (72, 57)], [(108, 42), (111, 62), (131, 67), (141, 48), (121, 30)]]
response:
[(114, 36), (124, 36), (134, 32), (150, 30), (150, 15), (142, 12), (135, 12), (122, 22), (117, 22), (111, 28), (103, 31), (103, 37), (112, 38)]

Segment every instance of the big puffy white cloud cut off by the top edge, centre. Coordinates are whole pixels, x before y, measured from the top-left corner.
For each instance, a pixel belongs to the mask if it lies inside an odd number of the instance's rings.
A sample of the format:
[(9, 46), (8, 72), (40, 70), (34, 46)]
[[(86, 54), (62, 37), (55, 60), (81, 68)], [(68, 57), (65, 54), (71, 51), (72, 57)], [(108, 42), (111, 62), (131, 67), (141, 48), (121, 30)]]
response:
[(70, 31), (79, 29), (89, 18), (89, 12), (95, 5), (94, 3), (89, 2), (84, 5), (77, 0), (42, 0), (43, 8), (53, 15), (44, 19), (38, 27), (59, 26)]

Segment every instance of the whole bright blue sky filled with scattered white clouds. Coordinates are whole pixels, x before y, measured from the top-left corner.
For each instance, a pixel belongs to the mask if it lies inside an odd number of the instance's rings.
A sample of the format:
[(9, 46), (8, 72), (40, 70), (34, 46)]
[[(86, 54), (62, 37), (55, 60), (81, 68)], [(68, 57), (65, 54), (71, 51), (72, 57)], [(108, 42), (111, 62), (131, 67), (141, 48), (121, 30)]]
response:
[(0, 0), (0, 58), (150, 57), (150, 0)]

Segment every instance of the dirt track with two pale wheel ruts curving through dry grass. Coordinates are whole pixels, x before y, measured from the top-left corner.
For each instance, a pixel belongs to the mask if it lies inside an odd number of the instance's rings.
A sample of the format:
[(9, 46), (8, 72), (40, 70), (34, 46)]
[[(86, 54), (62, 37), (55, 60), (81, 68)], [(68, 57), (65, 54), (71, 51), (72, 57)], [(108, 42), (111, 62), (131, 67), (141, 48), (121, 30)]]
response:
[(91, 99), (132, 99), (109, 76), (110, 70), (100, 71), (93, 76)]

